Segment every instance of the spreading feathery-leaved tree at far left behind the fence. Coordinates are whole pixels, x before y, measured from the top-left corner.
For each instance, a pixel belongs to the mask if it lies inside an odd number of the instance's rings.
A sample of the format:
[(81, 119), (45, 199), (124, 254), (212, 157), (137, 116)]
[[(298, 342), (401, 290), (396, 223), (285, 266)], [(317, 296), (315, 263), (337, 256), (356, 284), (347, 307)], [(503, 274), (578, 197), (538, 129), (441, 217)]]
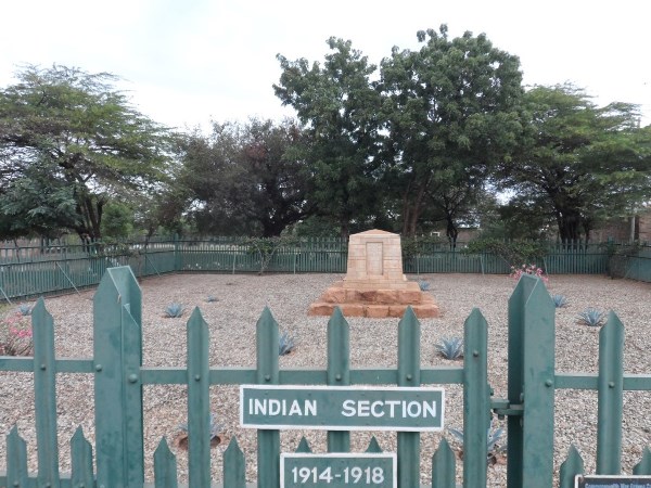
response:
[(47, 179), (75, 208), (63, 221), (59, 198), (41, 198), (39, 226), (101, 239), (107, 202), (165, 179), (167, 131), (136, 111), (110, 74), (28, 66), (16, 77), (0, 90), (0, 211), (22, 224), (34, 221), (34, 192), (18, 190)]

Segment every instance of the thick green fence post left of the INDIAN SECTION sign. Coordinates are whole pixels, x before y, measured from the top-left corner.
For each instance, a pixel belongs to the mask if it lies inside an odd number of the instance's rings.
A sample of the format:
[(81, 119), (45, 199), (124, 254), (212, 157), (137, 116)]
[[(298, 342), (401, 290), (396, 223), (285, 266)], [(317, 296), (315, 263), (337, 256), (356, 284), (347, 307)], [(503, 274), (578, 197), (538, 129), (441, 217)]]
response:
[(131, 269), (107, 269), (93, 297), (98, 488), (144, 483), (141, 324), (141, 292)]

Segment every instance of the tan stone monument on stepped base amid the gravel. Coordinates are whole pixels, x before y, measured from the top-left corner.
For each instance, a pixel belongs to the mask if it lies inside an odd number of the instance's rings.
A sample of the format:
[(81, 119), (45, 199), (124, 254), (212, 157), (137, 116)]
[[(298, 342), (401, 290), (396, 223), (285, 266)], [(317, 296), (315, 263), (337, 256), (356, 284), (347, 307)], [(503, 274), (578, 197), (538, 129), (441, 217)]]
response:
[(400, 236), (381, 230), (350, 235), (344, 281), (330, 286), (309, 307), (310, 316), (403, 317), (411, 307), (419, 318), (438, 317), (438, 306), (418, 283), (403, 274)]

